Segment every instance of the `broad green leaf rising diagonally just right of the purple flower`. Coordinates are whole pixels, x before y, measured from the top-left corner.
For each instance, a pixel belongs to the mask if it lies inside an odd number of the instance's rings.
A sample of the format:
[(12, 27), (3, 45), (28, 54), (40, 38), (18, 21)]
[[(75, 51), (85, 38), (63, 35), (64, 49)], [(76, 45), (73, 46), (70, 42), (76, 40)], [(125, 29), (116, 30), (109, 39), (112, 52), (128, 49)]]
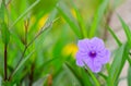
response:
[(108, 86), (114, 86), (119, 74), (120, 74), (120, 71), (121, 71), (121, 64), (123, 65), (124, 62), (122, 63), (122, 57), (123, 57), (123, 52), (124, 52), (124, 48), (126, 46), (122, 45), (118, 50), (117, 50), (117, 53), (114, 58), (114, 61), (112, 61), (112, 64), (110, 66), (110, 70), (109, 70), (109, 76), (108, 76), (108, 79), (107, 79), (107, 85)]

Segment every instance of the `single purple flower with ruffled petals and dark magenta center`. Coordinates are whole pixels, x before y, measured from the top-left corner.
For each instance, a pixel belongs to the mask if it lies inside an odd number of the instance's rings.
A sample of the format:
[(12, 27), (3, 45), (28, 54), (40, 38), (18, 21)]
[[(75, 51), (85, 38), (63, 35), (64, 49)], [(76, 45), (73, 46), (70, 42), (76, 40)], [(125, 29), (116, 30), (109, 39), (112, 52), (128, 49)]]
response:
[(85, 64), (94, 73), (98, 73), (103, 65), (109, 61), (110, 51), (105, 48), (104, 41), (97, 37), (83, 39), (78, 42), (79, 51), (76, 52), (76, 64)]

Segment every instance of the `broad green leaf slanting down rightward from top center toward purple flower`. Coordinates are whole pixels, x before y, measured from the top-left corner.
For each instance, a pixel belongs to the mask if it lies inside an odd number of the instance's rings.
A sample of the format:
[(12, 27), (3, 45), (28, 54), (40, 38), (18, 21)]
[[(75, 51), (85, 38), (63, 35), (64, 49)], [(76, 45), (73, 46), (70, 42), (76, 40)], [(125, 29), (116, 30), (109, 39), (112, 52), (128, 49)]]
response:
[(67, 21), (67, 23), (70, 25), (70, 27), (74, 32), (74, 34), (79, 38), (82, 38), (82, 35), (80, 33), (81, 30), (80, 30), (79, 24), (76, 23), (76, 21), (72, 16), (71, 12), (69, 11), (69, 8), (63, 2), (59, 2), (59, 4), (57, 5), (57, 9), (61, 13), (63, 19)]

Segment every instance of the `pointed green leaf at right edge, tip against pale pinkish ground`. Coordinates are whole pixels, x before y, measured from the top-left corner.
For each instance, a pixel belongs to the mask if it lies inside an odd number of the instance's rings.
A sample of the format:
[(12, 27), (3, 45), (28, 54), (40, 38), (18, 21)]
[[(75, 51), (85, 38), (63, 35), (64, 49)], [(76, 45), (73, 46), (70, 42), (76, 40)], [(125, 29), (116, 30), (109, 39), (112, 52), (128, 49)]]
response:
[(118, 15), (118, 17), (119, 17), (120, 23), (121, 23), (121, 25), (122, 25), (122, 27), (124, 29), (126, 35), (127, 35), (128, 42), (129, 42), (129, 45), (131, 47), (131, 30), (130, 30), (129, 26), (126, 24), (126, 22), (119, 15)]

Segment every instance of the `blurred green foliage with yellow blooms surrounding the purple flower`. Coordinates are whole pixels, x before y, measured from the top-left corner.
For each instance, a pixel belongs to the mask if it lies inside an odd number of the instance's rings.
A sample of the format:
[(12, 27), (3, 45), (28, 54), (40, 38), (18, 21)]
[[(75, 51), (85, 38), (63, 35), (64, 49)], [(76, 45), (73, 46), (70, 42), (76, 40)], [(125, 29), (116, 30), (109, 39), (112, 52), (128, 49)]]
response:
[[(126, 79), (131, 86), (131, 29), (118, 15), (127, 36), (121, 42), (108, 20), (104, 21), (120, 2), (0, 1), (0, 86), (118, 86), (126, 61), (130, 64)], [(112, 62), (97, 74), (76, 66), (76, 41), (103, 37), (104, 30), (118, 44)]]

